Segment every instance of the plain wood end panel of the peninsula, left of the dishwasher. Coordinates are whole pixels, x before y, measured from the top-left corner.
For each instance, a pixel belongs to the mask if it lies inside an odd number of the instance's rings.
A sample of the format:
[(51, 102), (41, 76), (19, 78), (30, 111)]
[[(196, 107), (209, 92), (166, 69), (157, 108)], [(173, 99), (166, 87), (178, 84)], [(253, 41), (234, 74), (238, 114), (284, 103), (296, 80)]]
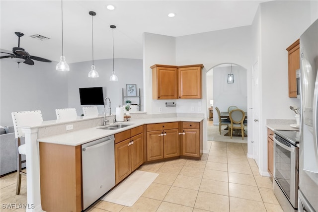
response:
[(80, 212), (81, 146), (39, 142), (42, 209)]

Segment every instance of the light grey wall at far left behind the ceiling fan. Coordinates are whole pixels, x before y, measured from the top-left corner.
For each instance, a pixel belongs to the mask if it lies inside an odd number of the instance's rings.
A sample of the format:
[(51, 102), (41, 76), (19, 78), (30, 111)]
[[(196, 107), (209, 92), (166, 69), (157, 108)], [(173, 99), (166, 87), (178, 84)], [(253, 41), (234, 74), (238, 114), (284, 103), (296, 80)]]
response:
[(68, 76), (56, 71), (56, 64), (35, 61), (18, 67), (10, 58), (1, 59), (1, 126), (13, 125), (11, 112), (41, 110), (46, 121), (56, 119), (56, 108), (68, 107)]

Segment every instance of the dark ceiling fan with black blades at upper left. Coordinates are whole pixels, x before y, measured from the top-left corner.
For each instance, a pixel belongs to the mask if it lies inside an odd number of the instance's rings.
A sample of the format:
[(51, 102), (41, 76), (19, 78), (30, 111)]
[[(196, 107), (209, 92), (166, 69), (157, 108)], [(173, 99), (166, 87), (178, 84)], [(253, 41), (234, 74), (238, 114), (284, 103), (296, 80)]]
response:
[(36, 57), (36, 56), (32, 56), (30, 55), (28, 52), (24, 51), (23, 48), (20, 48), (20, 37), (22, 37), (24, 34), (22, 32), (15, 32), (16, 36), (18, 36), (18, 47), (13, 47), (12, 48), (12, 53), (7, 53), (7, 52), (0, 52), (0, 53), (4, 53), (4, 54), (9, 54), (7, 56), (1, 56), (0, 59), (3, 58), (11, 58), (13, 59), (15, 62), (17, 62), (18, 64), (20, 63), (25, 63), (27, 65), (34, 65), (34, 61), (41, 61), (41, 62), (48, 62), (51, 63), (52, 61), (44, 59), (44, 58), (40, 58), (40, 57)]

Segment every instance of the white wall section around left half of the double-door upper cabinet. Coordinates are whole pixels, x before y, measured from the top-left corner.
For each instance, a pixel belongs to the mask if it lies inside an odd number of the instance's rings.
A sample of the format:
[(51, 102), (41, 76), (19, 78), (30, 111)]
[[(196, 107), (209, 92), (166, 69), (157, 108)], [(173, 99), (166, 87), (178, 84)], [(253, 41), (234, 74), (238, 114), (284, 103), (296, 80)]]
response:
[[(155, 64), (176, 65), (175, 37), (144, 33), (144, 105), (148, 114), (175, 113), (175, 107), (165, 107), (165, 102), (173, 100), (153, 100), (151, 66)], [(159, 112), (159, 107), (162, 112)]]

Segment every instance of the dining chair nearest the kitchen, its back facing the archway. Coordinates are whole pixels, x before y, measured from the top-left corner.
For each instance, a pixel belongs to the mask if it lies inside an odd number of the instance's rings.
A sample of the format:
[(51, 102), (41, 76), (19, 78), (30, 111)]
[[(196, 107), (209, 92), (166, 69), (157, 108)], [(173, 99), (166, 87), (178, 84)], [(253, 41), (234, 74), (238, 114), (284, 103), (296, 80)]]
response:
[(242, 140), (244, 139), (244, 119), (245, 113), (241, 109), (234, 109), (230, 111), (230, 120), (231, 124), (229, 124), (229, 131), (231, 134), (231, 139), (233, 135), (233, 130), (239, 129), (241, 130)]

